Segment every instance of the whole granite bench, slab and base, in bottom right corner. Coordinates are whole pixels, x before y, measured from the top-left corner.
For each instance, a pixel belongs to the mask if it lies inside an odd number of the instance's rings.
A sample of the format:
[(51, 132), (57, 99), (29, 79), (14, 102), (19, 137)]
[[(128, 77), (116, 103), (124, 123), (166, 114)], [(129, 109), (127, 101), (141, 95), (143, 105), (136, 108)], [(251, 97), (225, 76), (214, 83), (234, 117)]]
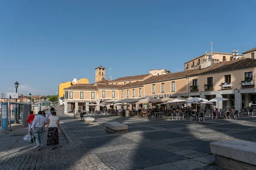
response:
[(256, 143), (227, 140), (210, 143), (215, 163), (232, 170), (256, 170)]

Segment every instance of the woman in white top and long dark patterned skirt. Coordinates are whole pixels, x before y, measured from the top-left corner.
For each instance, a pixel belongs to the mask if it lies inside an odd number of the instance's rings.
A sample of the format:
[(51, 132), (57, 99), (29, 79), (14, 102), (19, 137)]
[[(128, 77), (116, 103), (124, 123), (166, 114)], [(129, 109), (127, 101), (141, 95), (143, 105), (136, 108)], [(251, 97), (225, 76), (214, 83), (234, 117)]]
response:
[(55, 144), (59, 144), (58, 137), (58, 127), (59, 127), (59, 118), (56, 116), (56, 112), (52, 112), (52, 116), (49, 116), (49, 119), (45, 124), (48, 124), (48, 135), (47, 135), (47, 146), (52, 145), (52, 150), (55, 148)]

